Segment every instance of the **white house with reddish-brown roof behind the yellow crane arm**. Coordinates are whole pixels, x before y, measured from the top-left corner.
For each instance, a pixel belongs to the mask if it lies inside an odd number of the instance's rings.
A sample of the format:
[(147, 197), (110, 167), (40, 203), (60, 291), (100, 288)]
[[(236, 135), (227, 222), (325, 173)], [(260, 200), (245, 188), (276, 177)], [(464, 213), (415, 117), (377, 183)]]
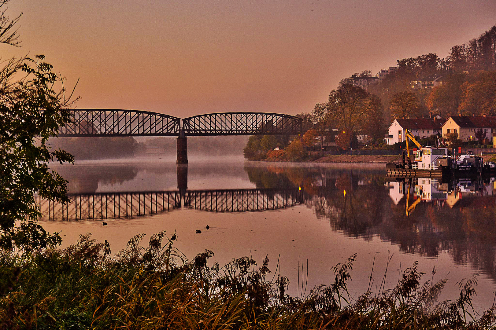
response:
[(388, 136), (384, 143), (395, 144), (405, 141), (405, 129), (419, 138), (427, 138), (433, 134), (441, 134), (441, 125), (444, 119), (434, 118), (411, 118), (411, 119), (394, 119), (388, 129)]

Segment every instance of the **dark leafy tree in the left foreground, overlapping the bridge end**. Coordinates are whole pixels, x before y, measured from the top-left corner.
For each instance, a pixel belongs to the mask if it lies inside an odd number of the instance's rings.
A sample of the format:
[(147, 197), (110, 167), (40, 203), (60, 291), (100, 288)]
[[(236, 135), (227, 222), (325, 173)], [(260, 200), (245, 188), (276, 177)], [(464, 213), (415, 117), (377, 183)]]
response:
[[(7, 1), (0, 1), (0, 7)], [(9, 20), (0, 10), (0, 43), (17, 46)], [(12, 32), (13, 31), (13, 32)], [(72, 163), (72, 156), (47, 145), (59, 127), (71, 121), (63, 78), (45, 56), (12, 58), (0, 68), (0, 247), (32, 249), (56, 246), (61, 237), (37, 223), (41, 216), (34, 195), (67, 202), (67, 181), (51, 171), (50, 162)], [(55, 86), (62, 85), (60, 89)]]

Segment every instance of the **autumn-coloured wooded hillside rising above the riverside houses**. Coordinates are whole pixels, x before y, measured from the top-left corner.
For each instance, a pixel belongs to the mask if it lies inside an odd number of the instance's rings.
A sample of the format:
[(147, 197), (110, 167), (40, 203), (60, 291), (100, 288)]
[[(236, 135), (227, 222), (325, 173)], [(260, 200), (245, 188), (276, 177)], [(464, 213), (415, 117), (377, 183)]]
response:
[[(394, 71), (382, 81), (365, 88), (355, 80), (371, 77), (365, 70), (344, 78), (329, 93), (327, 102), (317, 103), (310, 112), (300, 113), (303, 118), (302, 137), (276, 138), (267, 144), (268, 137), (252, 136), (245, 147), (245, 157), (250, 160), (302, 159), (306, 150), (312, 150), (320, 137), (335, 142), (337, 149), (356, 148), (357, 135), (367, 135), (369, 146), (382, 147), (382, 139), (394, 118), (431, 117), (450, 115), (496, 115), (496, 25), (462, 45), (453, 46), (445, 58), (434, 53), (397, 60)], [(418, 88), (427, 78), (440, 78), (438, 86)], [(311, 137), (306, 132), (311, 130)], [(309, 134), (307, 134), (309, 135)], [(286, 150), (289, 141), (292, 148), (301, 146), (297, 157)], [(271, 140), (273, 141), (273, 140)], [(273, 146), (280, 150), (273, 150)], [(271, 147), (271, 148), (269, 148)]]

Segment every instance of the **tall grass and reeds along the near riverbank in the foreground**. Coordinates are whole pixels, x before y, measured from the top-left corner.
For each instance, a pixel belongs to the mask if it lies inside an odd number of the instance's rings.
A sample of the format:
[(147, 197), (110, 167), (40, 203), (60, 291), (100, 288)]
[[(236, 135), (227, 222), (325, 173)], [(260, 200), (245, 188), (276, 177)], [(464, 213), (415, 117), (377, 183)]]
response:
[[(0, 329), (489, 329), (495, 306), (477, 315), (477, 274), (459, 283), (455, 301), (438, 301), (447, 282), (417, 263), (397, 285), (354, 299), (348, 282), (356, 255), (332, 268), (335, 279), (308, 295), (285, 293), (289, 280), (248, 257), (220, 267), (213, 252), (188, 261), (176, 235), (143, 234), (112, 255), (90, 234), (62, 250), (0, 253)], [(435, 271), (433, 270), (432, 278)], [(303, 289), (303, 285), (302, 285)]]

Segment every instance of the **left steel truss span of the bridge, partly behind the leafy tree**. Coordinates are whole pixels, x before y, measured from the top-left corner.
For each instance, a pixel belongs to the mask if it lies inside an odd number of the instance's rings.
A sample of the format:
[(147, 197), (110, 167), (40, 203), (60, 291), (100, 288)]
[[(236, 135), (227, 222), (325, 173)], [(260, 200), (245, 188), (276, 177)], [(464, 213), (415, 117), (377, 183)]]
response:
[(119, 109), (73, 109), (59, 136), (177, 136), (181, 119), (168, 114)]

